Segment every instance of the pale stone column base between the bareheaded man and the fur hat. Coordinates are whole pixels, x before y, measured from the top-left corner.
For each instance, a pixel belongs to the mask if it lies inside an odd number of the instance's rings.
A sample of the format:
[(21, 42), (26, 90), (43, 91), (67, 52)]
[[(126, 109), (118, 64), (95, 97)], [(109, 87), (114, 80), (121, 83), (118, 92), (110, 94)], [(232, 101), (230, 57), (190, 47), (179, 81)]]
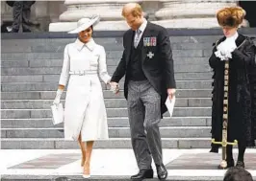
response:
[(160, 0), (162, 7), (156, 11), (157, 24), (166, 28), (216, 28), (216, 13), (224, 7), (236, 6), (235, 0)]

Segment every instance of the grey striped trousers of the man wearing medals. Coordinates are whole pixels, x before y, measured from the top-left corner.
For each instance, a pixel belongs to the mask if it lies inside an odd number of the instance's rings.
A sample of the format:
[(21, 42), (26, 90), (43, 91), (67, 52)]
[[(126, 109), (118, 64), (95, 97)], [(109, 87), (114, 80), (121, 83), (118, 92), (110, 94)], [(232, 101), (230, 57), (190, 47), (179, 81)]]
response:
[(132, 147), (140, 170), (163, 164), (159, 131), (161, 96), (148, 80), (128, 83), (128, 116)]

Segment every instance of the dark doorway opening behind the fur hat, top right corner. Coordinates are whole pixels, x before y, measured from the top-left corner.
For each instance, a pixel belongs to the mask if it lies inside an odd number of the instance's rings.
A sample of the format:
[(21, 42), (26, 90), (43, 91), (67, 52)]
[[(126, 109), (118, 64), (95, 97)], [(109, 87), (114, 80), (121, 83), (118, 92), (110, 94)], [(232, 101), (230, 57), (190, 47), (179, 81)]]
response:
[(239, 1), (239, 5), (246, 11), (245, 19), (250, 27), (256, 27), (256, 1)]

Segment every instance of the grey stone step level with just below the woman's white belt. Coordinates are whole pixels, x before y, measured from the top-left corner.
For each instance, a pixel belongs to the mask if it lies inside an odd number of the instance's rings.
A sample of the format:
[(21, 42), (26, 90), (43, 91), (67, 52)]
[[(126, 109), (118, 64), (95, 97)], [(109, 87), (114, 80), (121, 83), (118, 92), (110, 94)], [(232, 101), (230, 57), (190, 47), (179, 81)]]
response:
[[(176, 80), (211, 80), (213, 73), (212, 72), (199, 72), (199, 73), (175, 73), (174, 74)], [(56, 82), (58, 83), (60, 79), (60, 75), (52, 75), (52, 74), (43, 74), (43, 75), (33, 75), (33, 76), (17, 76), (17, 75), (8, 75), (1, 76), (2, 83), (8, 82)]]

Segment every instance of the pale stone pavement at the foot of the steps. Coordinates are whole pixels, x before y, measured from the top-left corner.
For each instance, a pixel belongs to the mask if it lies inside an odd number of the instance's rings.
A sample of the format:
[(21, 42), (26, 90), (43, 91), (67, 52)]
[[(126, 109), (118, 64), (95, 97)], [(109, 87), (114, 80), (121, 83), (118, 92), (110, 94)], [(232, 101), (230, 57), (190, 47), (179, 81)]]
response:
[[(167, 180), (222, 180), (225, 170), (215, 169), (219, 164), (220, 153), (208, 151), (164, 149)], [(0, 153), (3, 181), (83, 180), (79, 149), (1, 149)], [(256, 178), (255, 149), (246, 150), (245, 162), (247, 170)], [(153, 164), (152, 167), (155, 170)], [(129, 180), (130, 175), (137, 171), (132, 149), (94, 149), (92, 152), (90, 180)]]

